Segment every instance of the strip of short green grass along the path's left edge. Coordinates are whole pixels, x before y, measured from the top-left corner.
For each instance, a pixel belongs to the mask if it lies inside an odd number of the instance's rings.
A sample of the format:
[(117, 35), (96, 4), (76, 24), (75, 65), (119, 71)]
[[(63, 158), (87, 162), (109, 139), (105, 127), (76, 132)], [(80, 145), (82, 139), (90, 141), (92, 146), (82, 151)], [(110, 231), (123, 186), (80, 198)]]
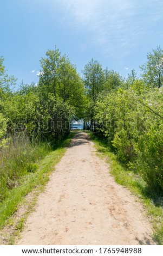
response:
[[(31, 204), (35, 203), (35, 198), (44, 189), (45, 184), (47, 184), (49, 180), (49, 174), (55, 169), (56, 163), (61, 160), (73, 136), (74, 134), (70, 133), (68, 138), (57, 145), (55, 150), (48, 153), (44, 159), (37, 161), (37, 170), (28, 173), (28, 175), (24, 175), (21, 180), (19, 180), (19, 186), (12, 188), (12, 190), (8, 192), (8, 196), (0, 204), (0, 229), (3, 229), (5, 225), (14, 224), (12, 216), (21, 204), (25, 204), (25, 196), (30, 192), (35, 193), (34, 200), (32, 200)], [(25, 220), (24, 216), (17, 222), (15, 230), (22, 228)]]

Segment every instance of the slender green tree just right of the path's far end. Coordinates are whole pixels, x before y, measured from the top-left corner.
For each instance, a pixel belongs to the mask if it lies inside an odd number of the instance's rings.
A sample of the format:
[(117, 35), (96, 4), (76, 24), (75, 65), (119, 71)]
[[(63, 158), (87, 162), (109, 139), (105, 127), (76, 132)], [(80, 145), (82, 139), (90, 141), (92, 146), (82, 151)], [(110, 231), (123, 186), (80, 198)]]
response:
[[(82, 70), (83, 82), (86, 88), (86, 118), (90, 120), (90, 130), (96, 132), (97, 116), (95, 116), (96, 104), (100, 99), (100, 95), (107, 95), (108, 92), (117, 90), (123, 83), (122, 77), (114, 70), (102, 69), (101, 64), (97, 60), (90, 60)], [(101, 115), (98, 117), (101, 118)]]

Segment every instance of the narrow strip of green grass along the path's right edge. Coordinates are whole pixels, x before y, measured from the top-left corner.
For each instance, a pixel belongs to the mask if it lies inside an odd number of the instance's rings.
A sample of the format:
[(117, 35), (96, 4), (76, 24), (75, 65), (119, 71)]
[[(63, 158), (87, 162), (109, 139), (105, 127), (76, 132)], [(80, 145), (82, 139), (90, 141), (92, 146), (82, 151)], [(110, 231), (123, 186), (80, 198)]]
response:
[(148, 190), (146, 182), (138, 174), (123, 166), (117, 160), (116, 155), (109, 150), (106, 142), (100, 141), (91, 134), (90, 137), (93, 139), (97, 151), (109, 163), (110, 173), (114, 176), (115, 181), (127, 187), (144, 205), (147, 216), (153, 225), (153, 239), (158, 245), (163, 245), (163, 198), (152, 194)]

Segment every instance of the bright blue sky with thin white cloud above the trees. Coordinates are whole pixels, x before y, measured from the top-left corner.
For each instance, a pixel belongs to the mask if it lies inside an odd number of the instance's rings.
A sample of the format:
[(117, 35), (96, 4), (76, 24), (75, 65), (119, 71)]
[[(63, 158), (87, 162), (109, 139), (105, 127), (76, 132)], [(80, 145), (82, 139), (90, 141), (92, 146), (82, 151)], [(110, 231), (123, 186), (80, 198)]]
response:
[(0, 12), (0, 56), (17, 83), (37, 83), (55, 45), (78, 72), (94, 58), (123, 77), (163, 48), (163, 0), (1, 0)]

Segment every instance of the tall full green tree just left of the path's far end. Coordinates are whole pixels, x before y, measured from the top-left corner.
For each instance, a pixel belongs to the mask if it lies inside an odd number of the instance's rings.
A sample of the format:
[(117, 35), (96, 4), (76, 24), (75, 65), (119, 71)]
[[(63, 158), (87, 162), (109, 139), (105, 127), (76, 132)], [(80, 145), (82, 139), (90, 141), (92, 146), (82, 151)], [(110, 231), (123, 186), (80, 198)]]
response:
[(59, 111), (58, 106), (62, 102), (62, 105), (74, 109), (74, 115), (82, 115), (84, 86), (69, 58), (55, 48), (41, 59), (41, 67), (38, 90), (44, 111), (49, 109), (47, 114), (53, 115)]

